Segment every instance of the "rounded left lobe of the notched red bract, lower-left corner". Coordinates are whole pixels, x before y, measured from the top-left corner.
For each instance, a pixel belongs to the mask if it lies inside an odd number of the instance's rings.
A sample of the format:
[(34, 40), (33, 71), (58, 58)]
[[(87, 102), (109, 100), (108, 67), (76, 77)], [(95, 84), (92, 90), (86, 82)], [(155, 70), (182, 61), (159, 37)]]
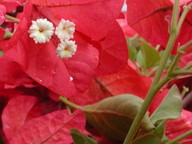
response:
[(3, 131), (10, 141), (26, 122), (27, 115), (37, 102), (35, 97), (18, 96), (12, 98), (2, 113)]

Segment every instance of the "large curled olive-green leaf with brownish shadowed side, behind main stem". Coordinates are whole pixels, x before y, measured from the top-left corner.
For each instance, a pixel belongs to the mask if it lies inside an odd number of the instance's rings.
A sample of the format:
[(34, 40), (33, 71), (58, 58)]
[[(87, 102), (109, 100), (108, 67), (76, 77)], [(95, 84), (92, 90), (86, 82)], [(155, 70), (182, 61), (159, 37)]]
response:
[[(87, 121), (109, 139), (123, 141), (138, 113), (143, 99), (129, 94), (106, 98), (82, 109)], [(148, 113), (144, 116), (141, 128), (149, 131), (154, 128)]]

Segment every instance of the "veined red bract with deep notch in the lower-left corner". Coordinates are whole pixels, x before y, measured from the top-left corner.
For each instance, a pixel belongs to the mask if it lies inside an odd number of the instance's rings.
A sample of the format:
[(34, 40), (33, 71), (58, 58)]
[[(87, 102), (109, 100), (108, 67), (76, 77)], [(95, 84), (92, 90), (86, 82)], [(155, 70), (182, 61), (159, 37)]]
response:
[(81, 111), (68, 114), (68, 111), (60, 110), (27, 121), (27, 115), (36, 101), (35, 97), (20, 96), (11, 99), (5, 107), (3, 128), (10, 144), (71, 144), (70, 130), (84, 131), (85, 117)]

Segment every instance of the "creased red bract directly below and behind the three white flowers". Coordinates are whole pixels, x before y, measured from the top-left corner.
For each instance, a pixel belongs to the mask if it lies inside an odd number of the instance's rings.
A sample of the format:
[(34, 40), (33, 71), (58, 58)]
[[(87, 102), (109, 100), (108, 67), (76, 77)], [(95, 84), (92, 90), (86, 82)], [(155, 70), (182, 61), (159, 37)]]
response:
[[(55, 38), (46, 44), (35, 44), (29, 38), (28, 28), (31, 23), (28, 21), (31, 21), (32, 12), (29, 3), (26, 10), (18, 31), (7, 43), (5, 54), (18, 62), (34, 80), (57, 94), (71, 97), (84, 91), (98, 66), (98, 50), (76, 34), (78, 48), (75, 56), (67, 60), (58, 58), (58, 42)], [(70, 81), (71, 76), (73, 81)]]

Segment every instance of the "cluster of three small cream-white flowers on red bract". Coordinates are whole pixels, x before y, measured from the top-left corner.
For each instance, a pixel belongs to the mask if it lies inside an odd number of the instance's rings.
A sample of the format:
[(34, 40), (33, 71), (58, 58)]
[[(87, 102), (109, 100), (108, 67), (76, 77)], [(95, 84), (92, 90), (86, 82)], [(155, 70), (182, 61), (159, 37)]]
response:
[[(55, 30), (55, 34), (60, 39), (60, 43), (56, 49), (56, 53), (60, 58), (70, 58), (75, 54), (77, 45), (75, 41), (70, 40), (74, 37), (74, 32), (75, 24), (69, 20), (61, 19)], [(29, 36), (33, 38), (35, 43), (46, 43), (50, 41), (54, 34), (54, 27), (47, 19), (37, 19), (36, 21), (32, 21), (29, 33)]]

